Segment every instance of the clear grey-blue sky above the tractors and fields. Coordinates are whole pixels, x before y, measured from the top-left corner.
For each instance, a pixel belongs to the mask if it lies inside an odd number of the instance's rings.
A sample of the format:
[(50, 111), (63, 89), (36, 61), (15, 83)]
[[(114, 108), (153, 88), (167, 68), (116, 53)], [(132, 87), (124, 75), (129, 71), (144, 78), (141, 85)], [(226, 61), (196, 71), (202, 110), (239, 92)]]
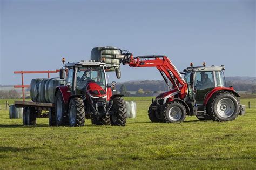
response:
[[(0, 0), (0, 84), (14, 71), (56, 70), (62, 58), (89, 60), (115, 46), (134, 56), (166, 55), (179, 71), (225, 65), (226, 76), (256, 76), (255, 1)], [(160, 80), (155, 68), (121, 66), (122, 78)], [(52, 75), (52, 77), (56, 77)], [(42, 74), (25, 75), (25, 84)]]

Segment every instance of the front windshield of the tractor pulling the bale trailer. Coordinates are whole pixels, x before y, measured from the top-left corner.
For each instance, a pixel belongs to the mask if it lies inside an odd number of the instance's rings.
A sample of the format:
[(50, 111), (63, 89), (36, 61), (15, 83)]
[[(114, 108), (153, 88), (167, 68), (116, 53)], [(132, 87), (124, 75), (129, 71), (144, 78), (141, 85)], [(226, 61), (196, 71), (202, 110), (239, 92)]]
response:
[(106, 80), (103, 67), (78, 67), (77, 89), (83, 89), (87, 83), (95, 82), (103, 89), (106, 88)]

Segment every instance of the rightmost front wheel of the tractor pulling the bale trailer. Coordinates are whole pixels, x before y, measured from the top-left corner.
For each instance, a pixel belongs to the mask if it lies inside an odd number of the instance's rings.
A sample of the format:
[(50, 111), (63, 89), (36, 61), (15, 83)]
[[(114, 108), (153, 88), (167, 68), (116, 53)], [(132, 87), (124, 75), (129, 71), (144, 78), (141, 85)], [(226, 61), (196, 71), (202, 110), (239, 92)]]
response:
[(127, 110), (124, 99), (120, 97), (113, 98), (113, 106), (111, 108), (113, 112), (110, 115), (110, 123), (112, 126), (125, 126), (127, 118)]

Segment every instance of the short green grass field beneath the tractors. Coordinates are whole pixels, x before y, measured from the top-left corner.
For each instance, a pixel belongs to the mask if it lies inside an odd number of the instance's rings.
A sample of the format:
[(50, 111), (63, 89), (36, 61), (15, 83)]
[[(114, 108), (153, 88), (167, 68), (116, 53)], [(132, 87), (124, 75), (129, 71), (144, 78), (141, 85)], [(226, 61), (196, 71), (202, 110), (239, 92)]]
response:
[(256, 99), (241, 99), (254, 107), (234, 121), (178, 124), (151, 123), (151, 98), (125, 99), (137, 103), (125, 127), (49, 127), (48, 118), (30, 127), (0, 110), (0, 169), (256, 169)]

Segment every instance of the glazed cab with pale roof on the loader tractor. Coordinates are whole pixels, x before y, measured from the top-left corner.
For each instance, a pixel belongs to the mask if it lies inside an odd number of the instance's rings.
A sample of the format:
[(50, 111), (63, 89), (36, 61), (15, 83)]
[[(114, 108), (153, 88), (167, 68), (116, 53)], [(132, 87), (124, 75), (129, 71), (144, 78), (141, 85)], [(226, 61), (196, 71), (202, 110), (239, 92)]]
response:
[(224, 70), (224, 65), (193, 67), (192, 64), (184, 70), (184, 80), (188, 84), (188, 100), (194, 101), (202, 112), (206, 94), (216, 87), (226, 87)]

